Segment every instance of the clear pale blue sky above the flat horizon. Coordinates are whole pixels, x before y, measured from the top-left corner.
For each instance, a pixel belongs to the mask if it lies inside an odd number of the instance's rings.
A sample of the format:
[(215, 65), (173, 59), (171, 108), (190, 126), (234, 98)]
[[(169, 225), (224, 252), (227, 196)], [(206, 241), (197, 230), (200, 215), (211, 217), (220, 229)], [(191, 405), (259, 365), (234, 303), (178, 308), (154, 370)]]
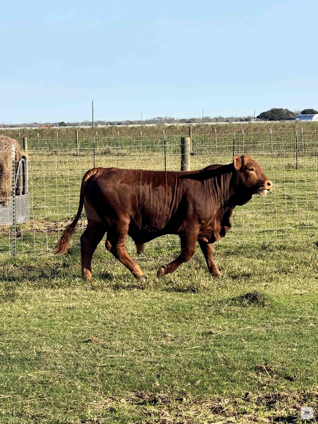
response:
[(1, 6), (0, 123), (318, 109), (318, 2)]

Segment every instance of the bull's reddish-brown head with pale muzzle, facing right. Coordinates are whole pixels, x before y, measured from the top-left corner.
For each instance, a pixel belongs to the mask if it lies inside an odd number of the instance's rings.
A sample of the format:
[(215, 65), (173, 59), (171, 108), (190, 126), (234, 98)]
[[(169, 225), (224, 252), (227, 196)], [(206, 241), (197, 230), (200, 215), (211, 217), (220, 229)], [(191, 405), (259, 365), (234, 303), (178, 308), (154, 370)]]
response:
[(233, 165), (236, 171), (236, 197), (239, 200), (237, 204), (246, 203), (253, 194), (263, 195), (272, 189), (273, 183), (263, 173), (261, 166), (249, 156), (234, 156)]

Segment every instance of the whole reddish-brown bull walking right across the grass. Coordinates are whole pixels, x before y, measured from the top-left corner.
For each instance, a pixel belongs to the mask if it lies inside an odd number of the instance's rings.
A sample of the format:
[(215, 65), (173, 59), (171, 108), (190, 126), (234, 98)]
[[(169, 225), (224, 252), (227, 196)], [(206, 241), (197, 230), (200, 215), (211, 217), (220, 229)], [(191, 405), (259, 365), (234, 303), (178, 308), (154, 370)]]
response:
[(234, 207), (272, 187), (259, 164), (247, 155), (234, 156), (229, 165), (209, 165), (190, 172), (93, 168), (83, 177), (77, 215), (55, 253), (67, 254), (84, 205), (88, 223), (81, 236), (83, 277), (92, 278), (92, 255), (105, 233), (106, 249), (136, 278), (144, 273), (126, 251), (127, 234), (138, 253), (156, 237), (179, 235), (181, 254), (159, 269), (158, 278), (190, 260), (197, 241), (209, 272), (218, 276), (213, 243), (231, 229)]

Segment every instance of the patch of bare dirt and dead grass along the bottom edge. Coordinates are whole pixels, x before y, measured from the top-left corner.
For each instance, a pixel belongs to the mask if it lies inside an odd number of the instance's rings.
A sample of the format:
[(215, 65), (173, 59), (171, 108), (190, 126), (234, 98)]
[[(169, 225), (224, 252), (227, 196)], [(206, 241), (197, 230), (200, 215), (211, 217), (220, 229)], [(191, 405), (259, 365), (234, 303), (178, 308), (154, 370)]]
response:
[(111, 396), (90, 402), (95, 408), (120, 408), (139, 413), (139, 424), (199, 424), (199, 423), (293, 423), (300, 420), (302, 406), (318, 406), (318, 393), (246, 392), (237, 398), (210, 396), (203, 399), (189, 393), (133, 391), (125, 397)]

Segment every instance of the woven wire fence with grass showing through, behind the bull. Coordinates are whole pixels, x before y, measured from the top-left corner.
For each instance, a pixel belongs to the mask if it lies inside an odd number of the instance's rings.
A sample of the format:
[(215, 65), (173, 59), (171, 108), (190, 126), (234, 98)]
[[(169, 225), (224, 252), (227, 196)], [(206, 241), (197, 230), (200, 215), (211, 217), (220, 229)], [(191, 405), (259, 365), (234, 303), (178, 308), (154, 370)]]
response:
[[(28, 191), (31, 220), (17, 224), (19, 254), (48, 255), (78, 208), (81, 179), (94, 166), (180, 170), (180, 135), (28, 139)], [(237, 206), (232, 230), (219, 243), (316, 243), (318, 236), (317, 131), (253, 132), (193, 135), (190, 167), (232, 162), (233, 152), (246, 153), (274, 183), (271, 193), (254, 195)], [(0, 207), (3, 207), (0, 205)], [(72, 245), (86, 227), (83, 210)], [(0, 254), (12, 255), (12, 226), (0, 227)], [(173, 235), (148, 247), (179, 247)], [(128, 251), (134, 250), (127, 240)]]

